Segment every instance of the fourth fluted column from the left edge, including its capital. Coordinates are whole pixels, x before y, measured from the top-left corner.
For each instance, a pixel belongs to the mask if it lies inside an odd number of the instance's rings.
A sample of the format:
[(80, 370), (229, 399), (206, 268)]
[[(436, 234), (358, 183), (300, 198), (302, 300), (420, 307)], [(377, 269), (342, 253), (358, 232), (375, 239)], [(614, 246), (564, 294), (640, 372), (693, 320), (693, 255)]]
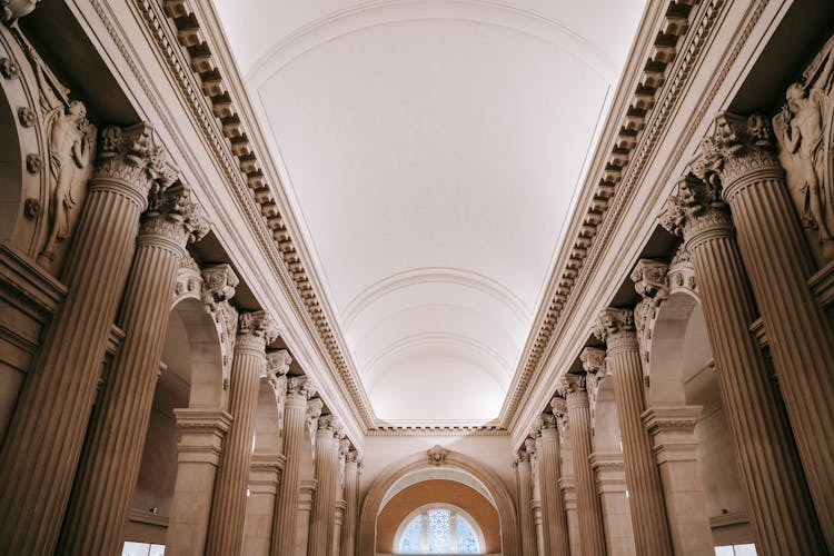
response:
[(284, 401), (284, 476), (278, 490), (272, 524), (272, 556), (295, 554), (298, 493), (301, 488), (301, 448), (306, 437), (307, 381), (302, 377), (287, 380)]

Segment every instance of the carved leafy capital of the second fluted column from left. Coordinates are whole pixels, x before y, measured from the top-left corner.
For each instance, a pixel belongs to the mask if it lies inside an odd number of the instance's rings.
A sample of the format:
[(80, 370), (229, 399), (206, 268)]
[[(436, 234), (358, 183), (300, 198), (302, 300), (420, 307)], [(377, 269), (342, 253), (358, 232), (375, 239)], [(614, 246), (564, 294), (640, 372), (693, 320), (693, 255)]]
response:
[(162, 187), (157, 182), (148, 193), (148, 209), (141, 218), (139, 245), (167, 247), (181, 257), (186, 245), (202, 239), (209, 228), (188, 185), (176, 181)]

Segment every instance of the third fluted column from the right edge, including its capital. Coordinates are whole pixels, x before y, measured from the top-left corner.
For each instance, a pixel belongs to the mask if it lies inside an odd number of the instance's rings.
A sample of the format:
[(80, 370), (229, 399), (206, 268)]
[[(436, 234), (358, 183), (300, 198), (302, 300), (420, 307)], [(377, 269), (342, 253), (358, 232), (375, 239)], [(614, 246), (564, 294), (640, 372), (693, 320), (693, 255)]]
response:
[(643, 366), (631, 309), (605, 309), (594, 334), (606, 342), (606, 369), (614, 379), (614, 399), (623, 438), (628, 503), (637, 554), (672, 554), (661, 474), (641, 416)]

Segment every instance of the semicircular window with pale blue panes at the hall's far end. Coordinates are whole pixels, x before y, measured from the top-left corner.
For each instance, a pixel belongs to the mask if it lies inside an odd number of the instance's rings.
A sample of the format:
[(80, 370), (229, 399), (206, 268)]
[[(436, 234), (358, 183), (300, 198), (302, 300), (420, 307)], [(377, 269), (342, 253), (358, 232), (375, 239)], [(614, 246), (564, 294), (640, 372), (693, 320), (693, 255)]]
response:
[(394, 546), (397, 554), (484, 554), (484, 534), (457, 506), (430, 504), (403, 520)]

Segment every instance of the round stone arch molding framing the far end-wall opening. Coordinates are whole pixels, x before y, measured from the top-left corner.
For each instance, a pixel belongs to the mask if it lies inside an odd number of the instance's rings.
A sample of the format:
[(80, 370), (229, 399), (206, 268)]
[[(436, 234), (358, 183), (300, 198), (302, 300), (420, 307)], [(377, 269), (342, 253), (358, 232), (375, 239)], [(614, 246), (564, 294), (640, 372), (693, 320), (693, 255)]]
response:
[[(513, 504), (513, 497), (500, 477), (492, 469), (486, 468), (480, 461), (458, 451), (445, 451), (443, 465), (463, 470), (484, 485), (493, 497), (498, 510), (502, 529), (502, 554), (504, 556), (518, 556), (518, 518), (516, 508)], [(390, 488), (405, 475), (430, 469), (433, 463), (426, 453), (420, 451), (390, 465), (370, 485), (359, 514), (359, 556), (375, 555), (377, 516), (383, 509), (383, 500)]]

